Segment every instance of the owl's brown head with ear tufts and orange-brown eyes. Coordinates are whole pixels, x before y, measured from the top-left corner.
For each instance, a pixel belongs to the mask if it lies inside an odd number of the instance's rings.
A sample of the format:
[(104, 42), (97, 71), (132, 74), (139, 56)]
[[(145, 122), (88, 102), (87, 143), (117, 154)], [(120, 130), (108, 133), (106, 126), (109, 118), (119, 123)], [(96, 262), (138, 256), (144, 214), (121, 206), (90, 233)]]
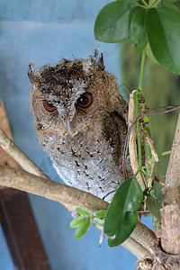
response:
[(30, 106), (36, 132), (73, 135), (92, 124), (101, 113), (114, 110), (119, 98), (115, 77), (104, 70), (103, 54), (61, 61), (39, 70), (32, 64)]

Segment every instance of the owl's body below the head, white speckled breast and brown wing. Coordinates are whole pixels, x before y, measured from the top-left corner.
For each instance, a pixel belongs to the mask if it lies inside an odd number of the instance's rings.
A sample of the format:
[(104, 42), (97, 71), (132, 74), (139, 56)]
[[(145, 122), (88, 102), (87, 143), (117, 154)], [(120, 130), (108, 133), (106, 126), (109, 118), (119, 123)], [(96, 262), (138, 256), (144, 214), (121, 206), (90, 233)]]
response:
[(126, 132), (125, 119), (118, 112), (107, 112), (103, 121), (92, 122), (90, 129), (79, 130), (73, 137), (57, 134), (56, 143), (52, 141), (50, 150), (49, 146), (45, 150), (65, 183), (103, 198), (123, 181)]

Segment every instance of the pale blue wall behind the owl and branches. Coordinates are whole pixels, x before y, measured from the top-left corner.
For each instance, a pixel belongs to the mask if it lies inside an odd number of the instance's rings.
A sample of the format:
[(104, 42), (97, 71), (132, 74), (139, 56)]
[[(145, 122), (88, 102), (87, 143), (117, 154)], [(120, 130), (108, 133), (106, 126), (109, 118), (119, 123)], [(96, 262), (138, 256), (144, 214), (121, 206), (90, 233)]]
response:
[[(0, 94), (15, 143), (51, 179), (60, 182), (49, 157), (35, 138), (29, 112), (31, 88), (27, 68), (56, 63), (60, 58), (87, 58), (94, 48), (103, 52), (108, 71), (120, 77), (119, 50), (115, 44), (94, 40), (94, 18), (110, 1), (0, 0)], [(121, 82), (121, 79), (120, 79)], [(90, 229), (74, 240), (70, 213), (58, 202), (29, 195), (40, 235), (53, 270), (135, 269), (136, 258), (123, 247), (98, 247), (100, 231)], [(0, 227), (0, 270), (14, 270)]]

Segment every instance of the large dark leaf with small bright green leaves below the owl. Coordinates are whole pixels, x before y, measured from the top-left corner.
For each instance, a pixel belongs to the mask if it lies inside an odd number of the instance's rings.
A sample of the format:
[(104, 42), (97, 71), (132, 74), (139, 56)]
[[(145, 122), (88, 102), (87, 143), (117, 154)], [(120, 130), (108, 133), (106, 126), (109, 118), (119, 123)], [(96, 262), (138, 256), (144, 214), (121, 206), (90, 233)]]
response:
[(79, 216), (70, 222), (70, 228), (76, 228), (75, 239), (83, 237), (93, 223), (103, 227), (104, 233), (110, 237), (108, 238), (110, 247), (121, 245), (130, 237), (137, 225), (137, 211), (141, 208), (143, 195), (148, 198), (148, 210), (160, 220), (160, 204), (150, 193), (142, 192), (135, 178), (129, 178), (120, 185), (107, 211), (99, 210), (90, 215), (85, 209), (76, 208)]

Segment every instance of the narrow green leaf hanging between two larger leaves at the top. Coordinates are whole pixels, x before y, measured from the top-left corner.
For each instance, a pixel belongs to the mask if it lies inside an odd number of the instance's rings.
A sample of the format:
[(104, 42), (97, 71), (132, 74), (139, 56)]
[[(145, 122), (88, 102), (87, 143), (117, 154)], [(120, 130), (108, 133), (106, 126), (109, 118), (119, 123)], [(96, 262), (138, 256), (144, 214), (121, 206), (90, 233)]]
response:
[(132, 40), (133, 47), (138, 52), (141, 52), (148, 42), (144, 29), (145, 14), (146, 10), (139, 7), (138, 9), (136, 9), (135, 14), (133, 14), (130, 22), (130, 40)]

